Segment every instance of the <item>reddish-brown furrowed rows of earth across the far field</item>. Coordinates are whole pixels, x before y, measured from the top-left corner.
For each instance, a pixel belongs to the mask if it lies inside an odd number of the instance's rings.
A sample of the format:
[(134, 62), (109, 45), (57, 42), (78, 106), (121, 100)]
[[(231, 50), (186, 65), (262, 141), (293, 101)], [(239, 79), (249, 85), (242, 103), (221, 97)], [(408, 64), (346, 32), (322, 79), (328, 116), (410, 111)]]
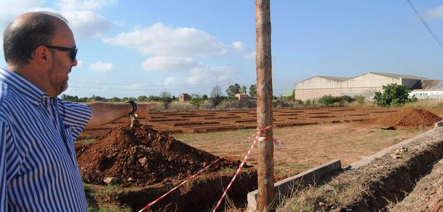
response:
[[(392, 108), (280, 108), (273, 110), (273, 124), (275, 127), (284, 127), (363, 122), (389, 115), (397, 110)], [(127, 119), (129, 117), (123, 117), (111, 124), (87, 129), (78, 139), (98, 138)], [(139, 120), (141, 124), (164, 133), (209, 133), (257, 127), (255, 109), (157, 112), (151, 113), (149, 120)]]

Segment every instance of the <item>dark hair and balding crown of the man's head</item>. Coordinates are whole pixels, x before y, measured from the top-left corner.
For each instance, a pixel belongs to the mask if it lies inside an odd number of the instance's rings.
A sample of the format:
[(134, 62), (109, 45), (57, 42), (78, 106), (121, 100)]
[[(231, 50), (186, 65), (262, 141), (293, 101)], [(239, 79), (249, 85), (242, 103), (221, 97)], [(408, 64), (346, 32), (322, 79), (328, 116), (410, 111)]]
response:
[(51, 45), (51, 39), (67, 21), (53, 12), (28, 12), (20, 15), (5, 29), (3, 50), (9, 65), (24, 66), (38, 46)]

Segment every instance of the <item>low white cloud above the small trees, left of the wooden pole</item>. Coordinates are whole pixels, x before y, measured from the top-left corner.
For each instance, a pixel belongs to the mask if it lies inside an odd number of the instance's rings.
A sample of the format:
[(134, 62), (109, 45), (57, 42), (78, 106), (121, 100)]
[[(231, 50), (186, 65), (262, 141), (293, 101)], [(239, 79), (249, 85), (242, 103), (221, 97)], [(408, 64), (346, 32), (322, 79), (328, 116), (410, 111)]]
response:
[(168, 86), (174, 85), (195, 85), (202, 83), (221, 83), (228, 81), (234, 73), (233, 68), (228, 66), (215, 66), (215, 67), (199, 67), (190, 70), (190, 73), (186, 77), (168, 77), (163, 84)]

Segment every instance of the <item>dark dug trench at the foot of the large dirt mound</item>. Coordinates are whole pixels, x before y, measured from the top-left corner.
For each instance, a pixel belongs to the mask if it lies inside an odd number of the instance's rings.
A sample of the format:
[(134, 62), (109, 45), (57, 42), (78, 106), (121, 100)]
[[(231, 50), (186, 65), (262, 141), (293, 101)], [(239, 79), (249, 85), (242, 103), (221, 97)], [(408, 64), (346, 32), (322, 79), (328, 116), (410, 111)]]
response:
[[(150, 211), (211, 211), (233, 174), (233, 172), (229, 172), (197, 177), (156, 202)], [(147, 186), (141, 189), (120, 191), (113, 195), (113, 201), (129, 206), (133, 211), (138, 211), (163, 193), (170, 191), (174, 186), (173, 184)], [(246, 168), (233, 182), (228, 191), (228, 198), (235, 203), (242, 204), (246, 201), (247, 193), (255, 189), (257, 189), (257, 172), (255, 168)]]

